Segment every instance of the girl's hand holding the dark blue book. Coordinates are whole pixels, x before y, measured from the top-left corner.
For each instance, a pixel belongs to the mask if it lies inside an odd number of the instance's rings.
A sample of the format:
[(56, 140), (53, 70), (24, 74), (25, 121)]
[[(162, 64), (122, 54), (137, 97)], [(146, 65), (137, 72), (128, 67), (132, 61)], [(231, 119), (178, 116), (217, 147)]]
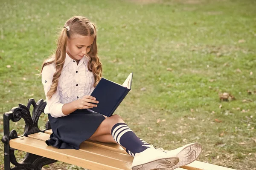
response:
[(81, 99), (77, 100), (76, 108), (77, 109), (90, 109), (93, 107), (97, 107), (96, 104), (91, 104), (91, 103), (96, 103), (98, 104), (99, 101), (96, 101), (96, 98), (90, 95), (85, 95)]

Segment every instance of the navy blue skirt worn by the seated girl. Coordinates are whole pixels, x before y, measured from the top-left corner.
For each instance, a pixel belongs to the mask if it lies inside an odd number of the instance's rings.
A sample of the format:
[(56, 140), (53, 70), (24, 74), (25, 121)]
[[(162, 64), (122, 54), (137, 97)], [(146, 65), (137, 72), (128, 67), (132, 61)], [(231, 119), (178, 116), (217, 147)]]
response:
[(48, 119), (52, 127), (52, 134), (45, 143), (59, 149), (78, 150), (80, 144), (93, 135), (105, 117), (87, 109), (78, 109), (59, 118), (48, 114)]

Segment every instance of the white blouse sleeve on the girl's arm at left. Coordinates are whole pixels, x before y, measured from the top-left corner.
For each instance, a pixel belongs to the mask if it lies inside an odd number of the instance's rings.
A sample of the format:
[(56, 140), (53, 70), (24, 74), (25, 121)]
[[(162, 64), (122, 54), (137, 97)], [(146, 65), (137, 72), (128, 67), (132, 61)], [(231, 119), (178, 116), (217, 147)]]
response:
[(52, 95), (52, 98), (49, 99), (47, 97), (47, 92), (49, 91), (52, 85), (52, 77), (54, 73), (55, 73), (55, 68), (53, 64), (44, 66), (42, 70), (42, 84), (44, 85), (44, 94), (46, 96), (46, 103), (49, 108), (49, 113), (51, 114), (52, 117), (58, 118), (58, 117), (66, 116), (62, 112), (62, 106), (64, 104), (60, 102), (58, 86), (57, 86), (57, 91)]

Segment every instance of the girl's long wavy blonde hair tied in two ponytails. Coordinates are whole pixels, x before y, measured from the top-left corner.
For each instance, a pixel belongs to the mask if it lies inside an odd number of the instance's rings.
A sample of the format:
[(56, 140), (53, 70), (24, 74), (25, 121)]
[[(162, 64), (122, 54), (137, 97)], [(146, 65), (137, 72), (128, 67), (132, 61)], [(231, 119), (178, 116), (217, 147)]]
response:
[[(67, 31), (67, 26), (70, 27), (70, 31)], [(60, 32), (57, 49), (55, 55), (47, 58), (42, 65), (41, 73), (44, 66), (55, 63), (56, 72), (52, 78), (52, 86), (47, 92), (47, 97), (52, 98), (52, 95), (57, 91), (58, 80), (61, 75), (61, 70), (63, 69), (65, 58), (66, 58), (66, 46), (67, 46), (67, 38), (72, 37), (72, 35), (83, 35), (83, 36), (94, 36), (93, 45), (90, 49), (90, 52), (87, 53), (87, 56), (90, 58), (88, 64), (88, 70), (93, 72), (93, 76), (95, 78), (95, 82), (93, 84), (94, 87), (99, 83), (102, 77), (102, 63), (99, 61), (98, 51), (97, 51), (97, 34), (96, 28), (93, 23), (91, 23), (86, 17), (82, 16), (74, 16), (71, 17), (65, 23), (63, 29)], [(55, 56), (55, 57), (54, 57)], [(53, 60), (49, 60), (54, 58)], [(41, 74), (40, 73), (40, 74)]]

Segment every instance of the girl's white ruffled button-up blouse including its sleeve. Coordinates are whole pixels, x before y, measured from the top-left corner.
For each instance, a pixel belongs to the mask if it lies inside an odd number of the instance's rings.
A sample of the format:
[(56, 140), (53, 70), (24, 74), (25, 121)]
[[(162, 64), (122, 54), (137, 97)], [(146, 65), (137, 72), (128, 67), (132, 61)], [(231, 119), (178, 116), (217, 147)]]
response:
[(72, 101), (78, 100), (84, 95), (93, 92), (94, 77), (93, 73), (87, 69), (89, 58), (84, 56), (77, 64), (66, 53), (66, 59), (59, 78), (57, 91), (52, 98), (47, 97), (47, 92), (52, 85), (52, 77), (56, 72), (55, 64), (44, 66), (42, 71), (42, 83), (46, 95), (47, 105), (44, 113), (51, 114), (52, 117), (66, 116), (62, 112), (62, 106)]

